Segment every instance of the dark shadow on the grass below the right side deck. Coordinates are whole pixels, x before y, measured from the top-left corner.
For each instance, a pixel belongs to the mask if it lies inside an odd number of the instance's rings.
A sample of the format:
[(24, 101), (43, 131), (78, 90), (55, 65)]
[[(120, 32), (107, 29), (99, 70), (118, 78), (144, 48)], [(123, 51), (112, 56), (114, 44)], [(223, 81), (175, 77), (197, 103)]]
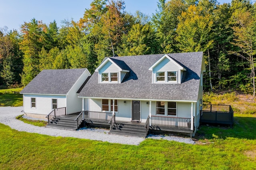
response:
[(227, 137), (256, 139), (256, 118), (255, 117), (234, 117), (234, 125), (230, 128), (228, 125), (200, 125), (196, 138), (214, 139)]

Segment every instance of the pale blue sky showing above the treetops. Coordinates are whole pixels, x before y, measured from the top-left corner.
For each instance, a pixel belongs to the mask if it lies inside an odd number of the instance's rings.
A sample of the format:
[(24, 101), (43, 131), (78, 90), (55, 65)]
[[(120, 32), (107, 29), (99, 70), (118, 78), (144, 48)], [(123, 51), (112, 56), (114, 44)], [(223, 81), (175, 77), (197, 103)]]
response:
[[(50, 24), (54, 20), (61, 25), (64, 19), (78, 21), (93, 0), (0, 0), (0, 28), (20, 31), (24, 22), (32, 18)], [(166, 0), (168, 1), (168, 0)], [(125, 10), (134, 14), (137, 10), (151, 16), (156, 12), (158, 0), (124, 0)], [(231, 0), (218, 0), (220, 4)]]

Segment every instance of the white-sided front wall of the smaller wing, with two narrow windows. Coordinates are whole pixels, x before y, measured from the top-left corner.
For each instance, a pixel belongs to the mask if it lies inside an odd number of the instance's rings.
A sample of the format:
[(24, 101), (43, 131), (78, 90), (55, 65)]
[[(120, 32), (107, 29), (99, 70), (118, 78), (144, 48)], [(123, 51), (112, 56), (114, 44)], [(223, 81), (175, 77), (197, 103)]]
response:
[[(31, 108), (31, 98), (36, 98), (36, 108)], [(64, 95), (30, 95), (24, 94), (24, 113), (48, 115), (52, 110), (52, 99), (57, 99), (57, 107), (66, 107)]]

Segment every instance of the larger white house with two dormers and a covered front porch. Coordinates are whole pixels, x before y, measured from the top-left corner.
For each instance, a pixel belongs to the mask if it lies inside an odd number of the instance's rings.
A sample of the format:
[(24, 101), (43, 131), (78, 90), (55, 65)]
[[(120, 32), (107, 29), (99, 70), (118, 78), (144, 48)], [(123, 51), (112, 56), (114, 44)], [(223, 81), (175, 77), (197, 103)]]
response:
[(78, 94), (81, 120), (194, 135), (204, 71), (203, 52), (106, 57)]

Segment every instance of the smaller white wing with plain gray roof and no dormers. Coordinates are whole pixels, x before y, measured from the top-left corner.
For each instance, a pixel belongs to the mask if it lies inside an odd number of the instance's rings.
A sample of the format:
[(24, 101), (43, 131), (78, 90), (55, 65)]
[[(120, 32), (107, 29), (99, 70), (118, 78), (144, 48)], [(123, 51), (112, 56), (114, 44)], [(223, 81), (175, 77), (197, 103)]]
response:
[(46, 119), (56, 108), (62, 108), (66, 115), (80, 112), (82, 99), (77, 91), (90, 75), (88, 69), (42, 70), (20, 92), (24, 115)]

